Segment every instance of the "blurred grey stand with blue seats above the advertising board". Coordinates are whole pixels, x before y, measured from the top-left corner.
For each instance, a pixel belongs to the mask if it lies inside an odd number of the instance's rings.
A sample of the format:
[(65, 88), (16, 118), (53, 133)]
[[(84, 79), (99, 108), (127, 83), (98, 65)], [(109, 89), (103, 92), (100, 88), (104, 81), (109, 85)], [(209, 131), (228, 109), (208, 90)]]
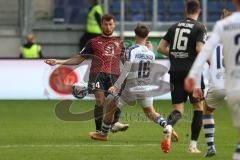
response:
[[(184, 16), (183, 0), (101, 0), (100, 3), (106, 13), (116, 16), (119, 36), (132, 37), (128, 31), (142, 21), (151, 26), (154, 45), (161, 33)], [(231, 0), (201, 0), (201, 4), (200, 21), (209, 31), (223, 8), (233, 10)], [(0, 58), (17, 58), (19, 46), (28, 33), (36, 35), (44, 57), (72, 56), (84, 32), (88, 8), (87, 0), (1, 0)]]

